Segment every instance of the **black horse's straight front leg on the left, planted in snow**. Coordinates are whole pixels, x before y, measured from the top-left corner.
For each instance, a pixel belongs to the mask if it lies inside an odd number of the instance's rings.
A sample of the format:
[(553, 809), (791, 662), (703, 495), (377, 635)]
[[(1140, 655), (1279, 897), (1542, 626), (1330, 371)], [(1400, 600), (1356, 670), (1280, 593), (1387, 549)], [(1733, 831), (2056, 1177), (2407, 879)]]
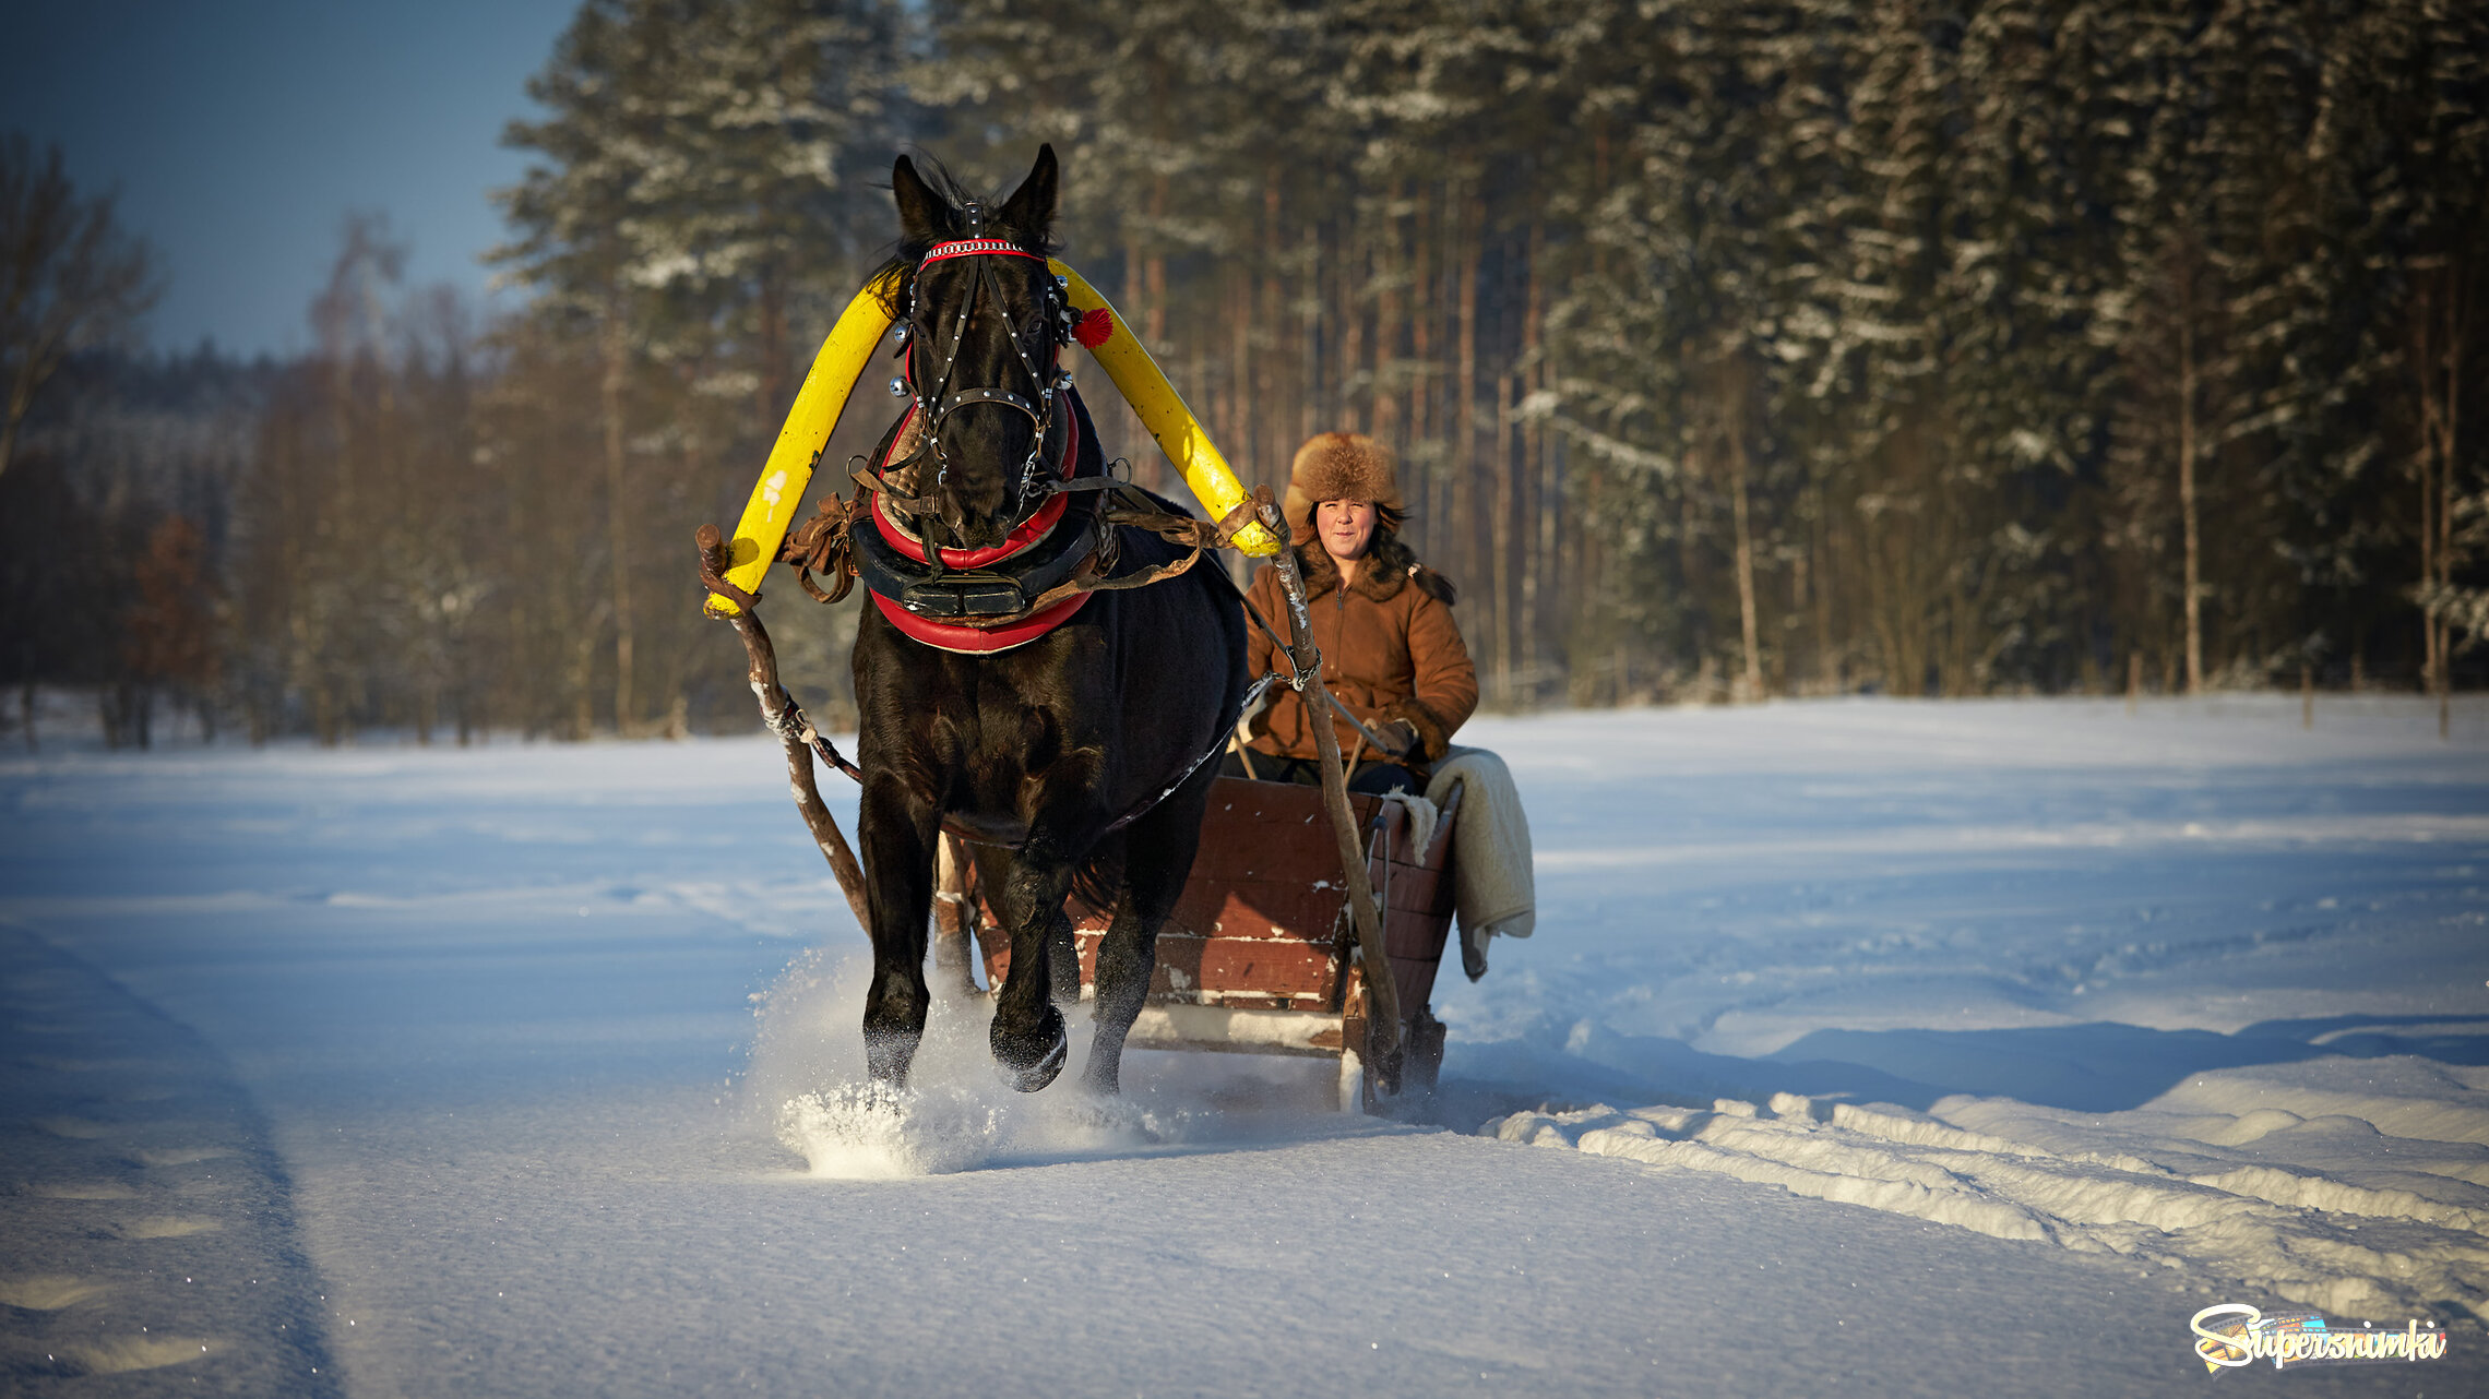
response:
[(906, 1083), (926, 1033), (926, 924), (941, 812), (896, 777), (866, 769), (859, 802), (864, 896), (874, 914), (874, 983), (864, 993), (864, 1058), (879, 1083)]

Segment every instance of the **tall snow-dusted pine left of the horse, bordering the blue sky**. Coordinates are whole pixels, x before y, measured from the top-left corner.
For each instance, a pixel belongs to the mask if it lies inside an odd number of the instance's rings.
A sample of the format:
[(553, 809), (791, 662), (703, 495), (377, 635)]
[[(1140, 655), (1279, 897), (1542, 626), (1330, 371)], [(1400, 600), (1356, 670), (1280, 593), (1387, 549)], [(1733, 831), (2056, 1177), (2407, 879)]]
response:
[[(503, 137), (543, 162), (500, 192), (518, 239), (495, 256), (540, 289), (543, 314), (592, 334), (602, 361), (625, 732), (640, 724), (630, 401), (647, 401), (650, 368), (689, 391), (665, 436), (694, 463), (787, 408), (794, 319), (826, 321), (879, 227), (866, 172), (896, 139), (901, 42), (904, 10), (884, 0), (590, 0), (528, 85), (550, 117)], [(702, 403), (719, 398), (749, 411), (702, 431)]]

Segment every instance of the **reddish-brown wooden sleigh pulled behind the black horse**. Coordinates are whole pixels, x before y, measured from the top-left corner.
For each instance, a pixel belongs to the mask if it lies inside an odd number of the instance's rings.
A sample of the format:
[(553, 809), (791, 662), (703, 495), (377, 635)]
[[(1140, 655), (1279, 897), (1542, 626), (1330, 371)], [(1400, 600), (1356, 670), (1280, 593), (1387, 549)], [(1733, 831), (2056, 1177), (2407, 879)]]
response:
[[(1384, 948), (1399, 988), (1404, 1093), (1431, 1093), (1444, 1065), (1444, 1023), (1429, 1001), (1451, 929), (1451, 826), (1461, 792), (1416, 849), (1409, 807), (1352, 794), (1366, 879), (1384, 909)], [(976, 943), (986, 986), (1011, 968), (1011, 936), (976, 886), (968, 859), (943, 859), (936, 961), (963, 971)], [(1110, 911), (1070, 904), (1080, 991), (1090, 993)], [(946, 946), (948, 943), (948, 946)], [(1319, 787), (1217, 779), (1202, 819), (1192, 879), (1157, 933), (1150, 998), (1125, 1041), (1132, 1048), (1327, 1058), (1339, 1065), (1342, 1110), (1376, 1105), (1366, 1038), (1369, 968), (1349, 916), (1339, 844)]]

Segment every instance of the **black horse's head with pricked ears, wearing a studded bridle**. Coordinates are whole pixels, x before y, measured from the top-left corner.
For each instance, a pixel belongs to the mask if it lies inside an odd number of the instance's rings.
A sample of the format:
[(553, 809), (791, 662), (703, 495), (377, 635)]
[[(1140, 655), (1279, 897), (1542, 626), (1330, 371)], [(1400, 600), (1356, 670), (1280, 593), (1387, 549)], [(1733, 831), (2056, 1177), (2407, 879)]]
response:
[(1063, 446), (1055, 386), (1063, 294), (1045, 266), (1055, 222), (1055, 147), (1001, 207), (936, 167), (928, 184), (899, 157), (891, 194), (904, 229), (899, 311), (908, 393), (926, 426), (916, 490), (961, 548), (996, 548), (1035, 508)]

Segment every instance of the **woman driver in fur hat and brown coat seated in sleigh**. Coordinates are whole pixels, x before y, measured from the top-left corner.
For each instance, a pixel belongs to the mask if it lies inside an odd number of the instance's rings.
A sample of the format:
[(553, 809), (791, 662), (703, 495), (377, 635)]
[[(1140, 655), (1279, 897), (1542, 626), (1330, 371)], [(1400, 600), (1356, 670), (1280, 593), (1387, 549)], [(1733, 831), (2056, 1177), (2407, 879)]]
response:
[[(1399, 483), (1391, 456), (1361, 433), (1322, 433), (1297, 448), (1287, 480), (1287, 520), (1297, 568), (1322, 647), (1322, 682), (1364, 727), (1399, 744), (1374, 752), (1354, 727), (1332, 717), (1339, 757), (1357, 792), (1424, 792), (1411, 769), (1444, 757), (1454, 729), (1478, 707), (1478, 670), (1451, 620), (1451, 580), (1421, 565), (1399, 540)], [(1279, 570), (1252, 580), (1252, 607), (1287, 635)], [(1287, 675), (1262, 627), (1247, 627), (1249, 670)], [(1314, 729), (1304, 695), (1272, 687), (1272, 704), (1249, 719), (1244, 752), (1230, 749), (1225, 774), (1264, 782), (1319, 784)]]

